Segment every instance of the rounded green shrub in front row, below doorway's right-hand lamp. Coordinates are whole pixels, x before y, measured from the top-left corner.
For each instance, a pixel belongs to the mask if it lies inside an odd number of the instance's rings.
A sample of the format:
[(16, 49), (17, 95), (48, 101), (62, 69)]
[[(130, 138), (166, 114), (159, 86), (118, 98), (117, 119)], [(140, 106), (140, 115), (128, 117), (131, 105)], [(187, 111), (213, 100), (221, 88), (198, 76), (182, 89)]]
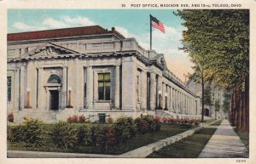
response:
[(55, 124), (51, 138), (57, 147), (73, 150), (77, 143), (77, 131), (73, 128), (73, 124), (58, 122)]

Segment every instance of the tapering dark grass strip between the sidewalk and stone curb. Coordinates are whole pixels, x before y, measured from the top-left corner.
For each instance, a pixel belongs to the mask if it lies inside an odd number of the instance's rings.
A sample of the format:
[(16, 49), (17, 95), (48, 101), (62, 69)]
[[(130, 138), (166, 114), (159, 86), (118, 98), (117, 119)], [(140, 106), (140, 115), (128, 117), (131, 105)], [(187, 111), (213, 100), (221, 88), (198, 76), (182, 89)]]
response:
[[(214, 126), (218, 126), (221, 121), (215, 122)], [(211, 126), (201, 129), (194, 135), (182, 139), (174, 144), (155, 151), (149, 158), (196, 158), (200, 155), (201, 150), (205, 147), (208, 140), (217, 128)]]

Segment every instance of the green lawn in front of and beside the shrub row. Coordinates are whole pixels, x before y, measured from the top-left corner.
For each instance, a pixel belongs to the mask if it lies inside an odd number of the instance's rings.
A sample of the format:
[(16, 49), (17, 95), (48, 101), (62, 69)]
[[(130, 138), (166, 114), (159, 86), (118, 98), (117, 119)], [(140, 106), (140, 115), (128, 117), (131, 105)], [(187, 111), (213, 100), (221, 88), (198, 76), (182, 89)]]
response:
[[(53, 124), (44, 125), (45, 129), (50, 129), (53, 127)], [(79, 126), (79, 124), (77, 125)], [(8, 150), (32, 150), (32, 151), (54, 151), (54, 152), (76, 152), (76, 153), (96, 153), (96, 154), (123, 154), (127, 151), (137, 149), (143, 145), (154, 143), (160, 139), (166, 139), (177, 133), (182, 133), (186, 130), (189, 130), (193, 127), (181, 127), (179, 125), (171, 124), (161, 124), (160, 131), (157, 133), (146, 133), (146, 134), (137, 134), (136, 137), (129, 140), (127, 143), (113, 146), (108, 149), (107, 152), (96, 149), (94, 146), (77, 146), (76, 150), (61, 150), (53, 144), (49, 137), (45, 137), (45, 143), (42, 147), (32, 148), (27, 147), (25, 143), (8, 143)]]

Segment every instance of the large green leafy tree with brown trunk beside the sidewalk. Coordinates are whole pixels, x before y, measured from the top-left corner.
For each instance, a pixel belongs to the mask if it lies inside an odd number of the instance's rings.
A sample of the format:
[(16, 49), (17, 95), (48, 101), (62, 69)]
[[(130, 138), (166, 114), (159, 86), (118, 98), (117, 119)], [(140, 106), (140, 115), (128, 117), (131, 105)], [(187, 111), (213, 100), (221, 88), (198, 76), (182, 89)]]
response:
[(202, 82), (207, 75), (219, 87), (231, 89), (230, 121), (248, 131), (249, 10), (184, 9), (175, 14), (184, 20), (186, 27), (181, 49), (200, 69)]

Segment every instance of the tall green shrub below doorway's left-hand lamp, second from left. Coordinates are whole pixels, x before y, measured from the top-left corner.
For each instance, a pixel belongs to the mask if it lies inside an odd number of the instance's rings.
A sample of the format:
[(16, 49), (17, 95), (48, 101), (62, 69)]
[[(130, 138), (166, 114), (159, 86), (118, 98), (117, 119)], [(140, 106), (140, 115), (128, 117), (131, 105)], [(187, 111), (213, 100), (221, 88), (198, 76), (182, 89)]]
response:
[(44, 143), (42, 124), (43, 122), (38, 119), (25, 118), (21, 129), (23, 130), (22, 133), (27, 146), (32, 145), (32, 147), (36, 147)]

